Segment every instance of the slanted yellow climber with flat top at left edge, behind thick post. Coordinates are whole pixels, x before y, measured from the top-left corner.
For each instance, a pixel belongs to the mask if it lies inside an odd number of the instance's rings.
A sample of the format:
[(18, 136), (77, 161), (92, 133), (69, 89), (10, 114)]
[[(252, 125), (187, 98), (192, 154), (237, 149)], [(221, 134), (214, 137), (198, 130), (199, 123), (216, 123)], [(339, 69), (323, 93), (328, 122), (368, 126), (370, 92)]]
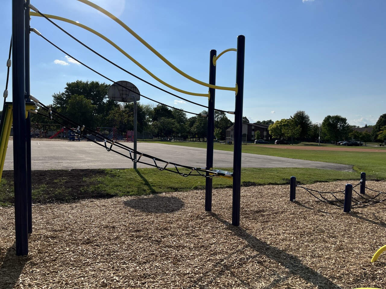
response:
[[(25, 118), (28, 116), (28, 110), (34, 109), (32, 104), (25, 104)], [(5, 102), (3, 115), (0, 123), (0, 181), (3, 175), (5, 155), (7, 154), (8, 140), (11, 134), (13, 121), (12, 102)]]

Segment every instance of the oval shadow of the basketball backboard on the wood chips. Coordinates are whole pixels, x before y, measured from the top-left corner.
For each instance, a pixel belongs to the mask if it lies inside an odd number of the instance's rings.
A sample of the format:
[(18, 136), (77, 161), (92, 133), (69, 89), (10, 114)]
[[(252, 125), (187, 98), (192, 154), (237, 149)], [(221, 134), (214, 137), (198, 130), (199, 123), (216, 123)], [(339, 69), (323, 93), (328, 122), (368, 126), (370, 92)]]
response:
[(181, 210), (185, 203), (177, 197), (152, 195), (145, 198), (133, 198), (124, 204), (144, 213), (174, 213)]

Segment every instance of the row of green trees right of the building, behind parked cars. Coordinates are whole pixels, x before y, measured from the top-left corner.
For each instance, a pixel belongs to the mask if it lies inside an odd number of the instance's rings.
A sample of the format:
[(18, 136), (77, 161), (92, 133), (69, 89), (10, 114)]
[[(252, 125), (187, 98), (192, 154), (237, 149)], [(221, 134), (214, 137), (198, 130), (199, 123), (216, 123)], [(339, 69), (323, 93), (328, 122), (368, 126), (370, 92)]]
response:
[(296, 111), (288, 119), (281, 119), (270, 124), (268, 127), (269, 134), (273, 138), (289, 139), (293, 141), (298, 139), (324, 141), (342, 141), (354, 139), (362, 142), (383, 142), (386, 139), (386, 114), (379, 116), (377, 123), (372, 126), (372, 132), (367, 131), (367, 124), (364, 131), (357, 131), (356, 126), (350, 126), (347, 119), (340, 115), (326, 116), (322, 123), (312, 123), (310, 116), (305, 111)]

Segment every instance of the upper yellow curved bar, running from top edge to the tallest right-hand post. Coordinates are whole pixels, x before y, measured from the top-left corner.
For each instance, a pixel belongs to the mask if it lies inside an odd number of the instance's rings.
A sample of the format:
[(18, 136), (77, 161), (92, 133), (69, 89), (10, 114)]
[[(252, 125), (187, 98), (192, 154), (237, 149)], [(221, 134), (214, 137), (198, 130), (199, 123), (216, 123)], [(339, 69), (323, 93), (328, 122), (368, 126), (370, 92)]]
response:
[(110, 17), (112, 20), (117, 22), (119, 25), (121, 25), (127, 32), (129, 32), (131, 35), (133, 35), (139, 42), (141, 42), (143, 45), (145, 45), (151, 52), (153, 52), (155, 55), (159, 57), (163, 62), (165, 62), (169, 67), (171, 67), (174, 71), (178, 72), (182, 76), (186, 77), (187, 79), (196, 82), (198, 84), (201, 84), (202, 86), (210, 87), (210, 88), (215, 88), (215, 89), (220, 89), (220, 90), (229, 90), (229, 91), (236, 91), (235, 87), (225, 87), (225, 86), (217, 86), (213, 84), (208, 84), (206, 82), (200, 81), (198, 79), (195, 79), (191, 77), (190, 75), (186, 74), (185, 72), (179, 70), (177, 67), (175, 67), (171, 62), (169, 62), (168, 59), (163, 57), (156, 49), (154, 49), (150, 44), (148, 44), (145, 40), (143, 40), (138, 34), (136, 34), (133, 30), (131, 30), (124, 22), (119, 20), (116, 16), (108, 12), (107, 10), (103, 9), (102, 7), (98, 6), (97, 4), (94, 4), (88, 0), (78, 0), (79, 2), (85, 3), (88, 6), (91, 6), (95, 9), (97, 9), (99, 12), (102, 12), (106, 16)]

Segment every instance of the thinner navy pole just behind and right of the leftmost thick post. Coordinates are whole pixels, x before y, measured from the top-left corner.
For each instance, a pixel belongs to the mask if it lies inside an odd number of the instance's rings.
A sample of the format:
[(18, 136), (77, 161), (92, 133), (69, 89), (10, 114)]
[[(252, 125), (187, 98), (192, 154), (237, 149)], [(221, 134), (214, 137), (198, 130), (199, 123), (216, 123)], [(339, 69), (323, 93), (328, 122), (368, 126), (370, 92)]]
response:
[[(29, 81), (29, 5), (30, 0), (25, 2), (25, 96), (26, 102), (32, 102), (28, 98), (31, 94)], [(27, 212), (28, 212), (28, 234), (32, 233), (32, 181), (31, 181), (31, 114), (28, 113), (25, 120), (26, 160), (27, 160)]]

